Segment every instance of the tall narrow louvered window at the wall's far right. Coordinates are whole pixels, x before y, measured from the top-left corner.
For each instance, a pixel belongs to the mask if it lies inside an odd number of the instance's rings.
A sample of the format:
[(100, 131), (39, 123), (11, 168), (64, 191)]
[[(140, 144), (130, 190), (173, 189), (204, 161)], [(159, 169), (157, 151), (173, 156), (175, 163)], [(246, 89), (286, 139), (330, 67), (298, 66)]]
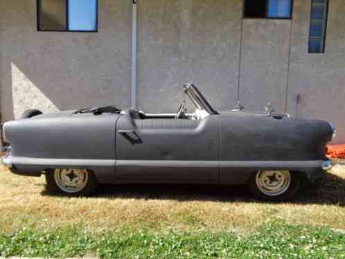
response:
[(309, 53), (325, 52), (327, 16), (328, 0), (312, 0), (308, 46)]

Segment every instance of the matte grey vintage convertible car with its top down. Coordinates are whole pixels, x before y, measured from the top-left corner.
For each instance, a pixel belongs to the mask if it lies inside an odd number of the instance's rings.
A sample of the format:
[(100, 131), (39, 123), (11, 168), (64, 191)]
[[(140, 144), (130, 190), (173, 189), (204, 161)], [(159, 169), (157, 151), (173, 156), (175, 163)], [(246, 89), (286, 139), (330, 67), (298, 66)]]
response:
[(288, 114), (215, 111), (193, 84), (176, 114), (98, 107), (26, 111), (3, 125), (2, 158), (47, 188), (90, 195), (98, 184), (246, 184), (258, 199), (289, 199), (301, 175), (322, 177), (335, 128)]

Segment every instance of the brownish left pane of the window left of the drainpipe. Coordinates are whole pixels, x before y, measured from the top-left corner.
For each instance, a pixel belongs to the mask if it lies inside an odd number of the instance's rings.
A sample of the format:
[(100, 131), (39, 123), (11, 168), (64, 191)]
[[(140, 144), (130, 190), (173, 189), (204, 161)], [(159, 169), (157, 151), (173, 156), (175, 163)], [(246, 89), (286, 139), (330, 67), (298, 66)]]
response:
[(66, 30), (66, 0), (41, 0), (40, 30)]

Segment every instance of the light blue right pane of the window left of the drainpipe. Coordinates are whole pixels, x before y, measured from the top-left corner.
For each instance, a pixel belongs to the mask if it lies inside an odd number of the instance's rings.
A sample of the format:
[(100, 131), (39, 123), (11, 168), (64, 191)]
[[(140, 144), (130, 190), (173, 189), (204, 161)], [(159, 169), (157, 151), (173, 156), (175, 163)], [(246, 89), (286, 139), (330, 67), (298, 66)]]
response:
[(69, 30), (94, 31), (96, 19), (97, 0), (69, 0)]

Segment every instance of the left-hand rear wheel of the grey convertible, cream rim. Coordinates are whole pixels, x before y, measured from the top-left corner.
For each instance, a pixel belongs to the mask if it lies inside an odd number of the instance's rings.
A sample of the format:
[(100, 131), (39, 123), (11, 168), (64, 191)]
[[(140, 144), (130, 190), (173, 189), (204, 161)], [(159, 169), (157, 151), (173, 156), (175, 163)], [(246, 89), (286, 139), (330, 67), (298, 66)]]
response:
[(87, 169), (55, 169), (46, 172), (46, 184), (51, 193), (87, 196), (97, 189), (94, 172)]

